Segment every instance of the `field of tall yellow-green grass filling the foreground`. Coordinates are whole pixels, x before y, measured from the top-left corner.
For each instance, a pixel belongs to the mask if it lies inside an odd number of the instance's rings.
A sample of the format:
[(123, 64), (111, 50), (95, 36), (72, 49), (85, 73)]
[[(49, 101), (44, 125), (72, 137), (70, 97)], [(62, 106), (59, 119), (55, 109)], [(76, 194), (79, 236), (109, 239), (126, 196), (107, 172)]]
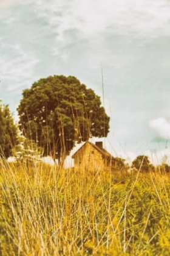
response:
[(170, 180), (0, 163), (0, 255), (170, 255)]

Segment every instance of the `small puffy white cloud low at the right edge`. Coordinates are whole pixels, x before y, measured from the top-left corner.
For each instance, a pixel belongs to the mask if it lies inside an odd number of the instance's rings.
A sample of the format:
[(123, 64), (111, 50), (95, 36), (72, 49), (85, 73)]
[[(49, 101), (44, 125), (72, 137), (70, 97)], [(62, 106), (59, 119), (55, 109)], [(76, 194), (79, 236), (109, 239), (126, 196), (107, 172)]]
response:
[(149, 127), (154, 129), (161, 138), (170, 138), (170, 122), (165, 118), (157, 118), (149, 121)]

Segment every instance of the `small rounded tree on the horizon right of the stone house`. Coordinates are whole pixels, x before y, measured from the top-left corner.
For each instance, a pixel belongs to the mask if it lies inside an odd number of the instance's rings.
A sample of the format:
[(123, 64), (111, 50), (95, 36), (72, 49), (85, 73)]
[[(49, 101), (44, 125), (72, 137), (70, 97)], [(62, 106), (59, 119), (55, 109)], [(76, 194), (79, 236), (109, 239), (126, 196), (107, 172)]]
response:
[(151, 165), (149, 158), (146, 155), (138, 155), (132, 162), (132, 168), (140, 169), (143, 172), (153, 170), (154, 166)]

